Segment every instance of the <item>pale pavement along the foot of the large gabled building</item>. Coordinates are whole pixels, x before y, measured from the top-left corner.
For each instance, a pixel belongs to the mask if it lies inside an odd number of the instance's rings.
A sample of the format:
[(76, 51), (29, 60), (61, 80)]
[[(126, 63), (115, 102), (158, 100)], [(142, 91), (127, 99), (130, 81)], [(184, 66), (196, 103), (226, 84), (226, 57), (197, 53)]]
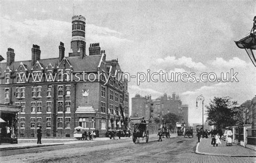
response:
[[(128, 139), (128, 138), (129, 137), (121, 137), (121, 139)], [(37, 139), (18, 139), (18, 144), (9, 144), (9, 143), (0, 144), (0, 151), (23, 149), (23, 148), (33, 148), (33, 147), (43, 147), (43, 146), (53, 146), (53, 145), (88, 143), (91, 141), (106, 141), (106, 140), (112, 140), (112, 139), (103, 137), (103, 138), (96, 138), (96, 139), (88, 141), (88, 140), (77, 140), (75, 138), (70, 138), (70, 139), (46, 138), (46, 139), (42, 139), (42, 144), (39, 144), (39, 145), (37, 144)]]

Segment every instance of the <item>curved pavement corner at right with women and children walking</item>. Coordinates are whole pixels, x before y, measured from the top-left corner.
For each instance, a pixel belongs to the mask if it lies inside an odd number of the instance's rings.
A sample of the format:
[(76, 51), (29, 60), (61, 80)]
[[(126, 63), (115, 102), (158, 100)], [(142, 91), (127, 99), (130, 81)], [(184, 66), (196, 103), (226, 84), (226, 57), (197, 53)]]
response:
[(197, 144), (196, 153), (225, 157), (256, 157), (255, 151), (237, 144), (226, 146), (223, 140), (221, 140), (220, 145), (214, 147), (211, 145), (211, 138), (201, 138), (200, 143)]

